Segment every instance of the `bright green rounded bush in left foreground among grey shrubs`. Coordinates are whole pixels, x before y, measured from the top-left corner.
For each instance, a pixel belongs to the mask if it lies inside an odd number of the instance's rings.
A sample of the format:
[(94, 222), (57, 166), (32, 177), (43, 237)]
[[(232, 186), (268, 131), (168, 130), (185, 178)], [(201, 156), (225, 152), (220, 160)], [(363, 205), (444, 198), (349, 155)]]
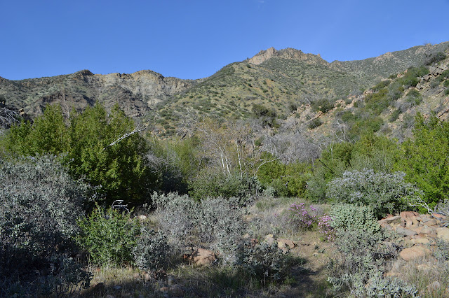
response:
[(76, 241), (87, 250), (94, 264), (133, 264), (133, 247), (140, 232), (137, 219), (112, 208), (96, 206), (87, 218), (78, 221), (81, 228)]

